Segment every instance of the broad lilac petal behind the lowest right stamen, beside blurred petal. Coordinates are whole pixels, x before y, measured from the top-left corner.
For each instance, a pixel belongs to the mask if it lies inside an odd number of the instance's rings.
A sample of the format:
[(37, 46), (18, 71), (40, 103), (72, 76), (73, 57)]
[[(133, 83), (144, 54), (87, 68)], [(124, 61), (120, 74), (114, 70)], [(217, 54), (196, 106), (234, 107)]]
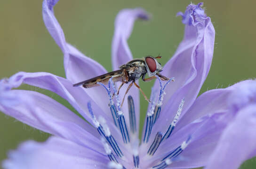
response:
[(168, 138), (155, 155), (162, 159), (163, 154), (168, 154), (191, 136), (191, 143), (180, 154), (184, 161), (174, 162), (170, 166), (179, 169), (205, 166), (226, 126), (225, 120), (230, 120), (225, 113), (206, 115)]

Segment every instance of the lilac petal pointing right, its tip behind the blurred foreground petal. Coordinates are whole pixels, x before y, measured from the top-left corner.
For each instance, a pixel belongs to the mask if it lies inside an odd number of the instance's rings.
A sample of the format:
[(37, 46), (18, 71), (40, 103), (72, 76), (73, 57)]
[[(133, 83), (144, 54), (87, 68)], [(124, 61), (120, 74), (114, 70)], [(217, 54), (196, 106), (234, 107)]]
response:
[(186, 114), (184, 114), (178, 121), (175, 131), (178, 131), (186, 124), (191, 123), (204, 115), (227, 112), (230, 107), (228, 99), (230, 97), (236, 98), (232, 96), (232, 93), (234, 91), (241, 91), (238, 89), (244, 87), (245, 84), (251, 84), (252, 82), (254, 81), (246, 80), (225, 89), (215, 89), (204, 92), (195, 100), (191, 108), (189, 108)]

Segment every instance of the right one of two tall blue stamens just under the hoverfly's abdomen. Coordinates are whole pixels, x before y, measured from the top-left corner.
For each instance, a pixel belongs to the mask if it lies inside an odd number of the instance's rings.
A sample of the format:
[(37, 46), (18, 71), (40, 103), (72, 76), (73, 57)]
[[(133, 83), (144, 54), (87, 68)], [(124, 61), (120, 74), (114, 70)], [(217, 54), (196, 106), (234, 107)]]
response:
[(115, 85), (112, 81), (112, 78), (110, 78), (110, 80), (109, 80), (109, 88), (110, 88), (110, 84), (112, 85), (112, 89), (114, 91), (114, 95), (115, 95), (116, 100), (117, 100), (118, 123), (119, 123), (120, 131), (121, 131), (121, 134), (122, 134), (122, 138), (123, 138), (124, 143), (129, 143), (130, 142), (129, 133), (128, 133), (128, 130), (127, 130), (127, 126), (126, 126), (126, 122), (125, 122), (123, 112), (121, 110), (120, 99), (119, 99), (119, 96), (117, 94), (117, 90), (115, 88)]

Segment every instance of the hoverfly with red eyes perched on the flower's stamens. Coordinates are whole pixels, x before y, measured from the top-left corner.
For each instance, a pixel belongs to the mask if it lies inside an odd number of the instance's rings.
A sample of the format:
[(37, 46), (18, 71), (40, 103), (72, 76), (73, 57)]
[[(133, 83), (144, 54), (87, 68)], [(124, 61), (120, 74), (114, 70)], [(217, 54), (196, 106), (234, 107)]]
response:
[[(160, 58), (161, 56), (157, 56), (157, 57), (146, 56), (143, 59), (134, 59), (120, 66), (119, 70), (115, 70), (115, 71), (106, 73), (104, 75), (90, 78), (88, 80), (79, 82), (77, 84), (73, 84), (73, 86), (83, 85), (84, 88), (91, 88), (91, 87), (99, 86), (100, 84), (97, 84), (98, 82), (107, 84), (109, 79), (112, 77), (113, 82), (118, 82), (118, 81), (122, 82), (118, 88), (117, 94), (119, 94), (119, 91), (123, 86), (123, 84), (125, 83), (128, 84), (129, 82), (131, 82), (128, 85), (124, 98), (128, 93), (129, 89), (134, 84), (140, 90), (140, 92), (142, 92), (145, 100), (150, 102), (150, 100), (148, 100), (145, 93), (142, 91), (139, 85), (136, 84), (135, 81), (140, 77), (142, 77), (142, 80), (147, 82), (154, 78), (157, 78), (156, 75), (159, 76), (161, 80), (169, 80), (169, 78), (159, 73), (160, 71), (162, 71), (163, 68), (156, 59), (160, 59)], [(148, 74), (149, 76), (148, 78), (145, 78), (146, 74)], [(124, 98), (123, 98), (123, 101), (124, 101)], [(122, 101), (122, 104), (123, 104), (123, 101)]]

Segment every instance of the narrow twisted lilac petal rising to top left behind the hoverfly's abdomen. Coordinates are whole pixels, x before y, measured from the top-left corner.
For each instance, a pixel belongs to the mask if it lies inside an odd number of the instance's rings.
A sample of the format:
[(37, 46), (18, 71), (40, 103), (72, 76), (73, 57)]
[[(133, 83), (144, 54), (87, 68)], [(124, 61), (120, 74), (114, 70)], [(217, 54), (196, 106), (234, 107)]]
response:
[[(88, 58), (72, 45), (68, 44), (64, 37), (64, 32), (58, 23), (53, 7), (57, 0), (43, 1), (43, 20), (51, 36), (56, 41), (64, 54), (64, 68), (67, 79), (73, 84), (105, 74), (107, 71), (98, 62)], [(107, 95), (101, 87), (85, 90), (92, 100), (105, 100)], [(104, 103), (104, 102), (103, 102)], [(107, 108), (107, 104), (99, 102), (102, 108)]]

